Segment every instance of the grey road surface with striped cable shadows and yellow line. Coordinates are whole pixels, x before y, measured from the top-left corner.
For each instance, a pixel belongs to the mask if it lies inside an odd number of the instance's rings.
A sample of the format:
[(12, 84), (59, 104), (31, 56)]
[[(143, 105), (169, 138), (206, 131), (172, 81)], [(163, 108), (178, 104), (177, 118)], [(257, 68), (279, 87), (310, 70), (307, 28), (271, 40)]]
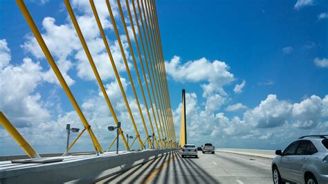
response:
[(273, 183), (271, 159), (216, 152), (181, 158), (179, 151), (98, 183)]

